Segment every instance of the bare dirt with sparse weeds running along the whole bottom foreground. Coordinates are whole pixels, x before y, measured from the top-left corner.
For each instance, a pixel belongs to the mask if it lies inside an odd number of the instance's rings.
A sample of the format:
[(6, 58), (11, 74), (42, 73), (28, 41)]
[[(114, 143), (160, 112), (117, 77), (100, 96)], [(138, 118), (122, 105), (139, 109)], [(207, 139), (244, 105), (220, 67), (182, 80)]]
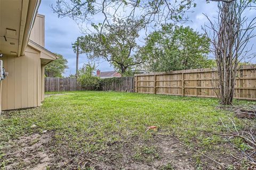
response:
[[(229, 144), (220, 144), (218, 148), (205, 154), (226, 167), (234, 165), (239, 169), (241, 164), (233, 157), (241, 158), (239, 152)], [(58, 151), (53, 154), (51, 149)], [(6, 153), (6, 169), (225, 169), (179, 143), (173, 136), (155, 136), (149, 141), (115, 142), (105, 150), (85, 153), (58, 145), (52, 132), (46, 132), (10, 141)]]

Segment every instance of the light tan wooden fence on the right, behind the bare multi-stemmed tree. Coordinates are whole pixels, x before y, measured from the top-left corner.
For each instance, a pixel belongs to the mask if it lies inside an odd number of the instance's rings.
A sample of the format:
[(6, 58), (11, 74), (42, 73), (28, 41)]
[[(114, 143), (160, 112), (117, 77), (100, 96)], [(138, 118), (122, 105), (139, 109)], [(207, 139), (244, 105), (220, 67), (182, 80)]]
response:
[[(153, 72), (134, 76), (134, 91), (138, 93), (181, 96), (217, 97), (217, 71), (191, 69), (171, 72)], [(256, 100), (256, 64), (239, 68), (235, 98)]]

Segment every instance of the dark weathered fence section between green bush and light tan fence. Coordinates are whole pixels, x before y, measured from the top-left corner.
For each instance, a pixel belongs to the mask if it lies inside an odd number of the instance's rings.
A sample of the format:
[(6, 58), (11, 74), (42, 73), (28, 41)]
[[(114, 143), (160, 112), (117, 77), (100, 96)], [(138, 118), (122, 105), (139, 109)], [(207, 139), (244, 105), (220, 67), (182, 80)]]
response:
[(117, 91), (117, 92), (133, 92), (134, 78), (133, 77), (115, 77), (103, 79), (101, 90)]

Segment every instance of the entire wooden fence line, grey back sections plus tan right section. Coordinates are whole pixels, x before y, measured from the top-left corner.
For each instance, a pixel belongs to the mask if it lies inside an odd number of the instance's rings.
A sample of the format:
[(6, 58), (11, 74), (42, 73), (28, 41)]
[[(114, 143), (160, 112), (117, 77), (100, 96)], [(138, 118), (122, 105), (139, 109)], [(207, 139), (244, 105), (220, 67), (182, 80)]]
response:
[[(153, 72), (103, 81), (105, 83), (101, 84), (101, 90), (215, 98), (217, 80), (214, 69)], [(45, 78), (45, 92), (79, 90), (83, 88), (76, 78)], [(256, 100), (256, 64), (239, 68), (235, 98)]]

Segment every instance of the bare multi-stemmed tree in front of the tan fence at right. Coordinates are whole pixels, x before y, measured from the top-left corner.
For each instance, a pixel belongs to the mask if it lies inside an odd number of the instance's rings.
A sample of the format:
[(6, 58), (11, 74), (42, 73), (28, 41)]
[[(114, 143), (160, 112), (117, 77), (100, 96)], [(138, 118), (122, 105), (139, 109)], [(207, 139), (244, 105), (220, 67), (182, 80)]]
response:
[[(220, 103), (232, 104), (235, 92), (235, 80), (238, 63), (246, 58), (251, 58), (252, 47), (248, 49), (249, 40), (255, 37), (255, 17), (248, 19), (246, 12), (255, 12), (254, 2), (230, 1), (218, 2), (217, 21), (210, 21), (210, 26), (205, 26), (205, 32), (211, 39), (211, 51), (215, 55), (218, 69), (218, 96)], [(250, 21), (249, 21), (250, 20)]]

